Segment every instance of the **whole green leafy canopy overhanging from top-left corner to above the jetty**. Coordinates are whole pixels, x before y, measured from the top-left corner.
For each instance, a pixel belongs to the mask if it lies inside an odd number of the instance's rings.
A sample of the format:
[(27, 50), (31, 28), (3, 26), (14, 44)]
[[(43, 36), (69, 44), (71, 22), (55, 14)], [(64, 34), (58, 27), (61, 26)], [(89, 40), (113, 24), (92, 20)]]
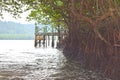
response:
[(2, 0), (0, 2), (1, 16), (4, 11), (13, 14), (15, 18), (20, 17), (24, 11), (31, 11), (27, 17), (28, 21), (34, 20), (36, 23), (58, 26), (64, 24), (62, 9), (64, 0)]

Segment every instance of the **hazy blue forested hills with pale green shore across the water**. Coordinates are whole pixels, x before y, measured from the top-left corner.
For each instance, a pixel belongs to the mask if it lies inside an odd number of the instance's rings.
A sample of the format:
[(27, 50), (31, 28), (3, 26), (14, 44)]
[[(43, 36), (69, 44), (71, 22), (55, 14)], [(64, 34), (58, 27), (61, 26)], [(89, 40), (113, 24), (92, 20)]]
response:
[(20, 24), (0, 21), (1, 40), (29, 40), (34, 39), (34, 24)]

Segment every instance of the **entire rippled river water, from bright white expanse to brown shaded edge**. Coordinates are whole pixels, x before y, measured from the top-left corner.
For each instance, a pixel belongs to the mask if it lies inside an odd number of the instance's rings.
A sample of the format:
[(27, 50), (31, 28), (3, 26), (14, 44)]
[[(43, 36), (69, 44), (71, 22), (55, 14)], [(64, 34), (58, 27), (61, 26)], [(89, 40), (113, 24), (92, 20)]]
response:
[(68, 61), (61, 50), (33, 40), (0, 41), (0, 80), (110, 80)]

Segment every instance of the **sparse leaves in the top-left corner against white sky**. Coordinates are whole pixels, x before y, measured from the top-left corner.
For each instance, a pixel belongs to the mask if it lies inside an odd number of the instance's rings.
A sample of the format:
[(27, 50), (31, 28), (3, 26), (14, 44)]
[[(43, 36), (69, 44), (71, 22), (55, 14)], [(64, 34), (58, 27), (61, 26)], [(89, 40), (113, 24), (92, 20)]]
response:
[(3, 12), (9, 12), (13, 15), (13, 17), (20, 17), (20, 14), (23, 13), (24, 8), (23, 4), (20, 1), (16, 0), (1, 0), (0, 1), (0, 16), (2, 16)]

